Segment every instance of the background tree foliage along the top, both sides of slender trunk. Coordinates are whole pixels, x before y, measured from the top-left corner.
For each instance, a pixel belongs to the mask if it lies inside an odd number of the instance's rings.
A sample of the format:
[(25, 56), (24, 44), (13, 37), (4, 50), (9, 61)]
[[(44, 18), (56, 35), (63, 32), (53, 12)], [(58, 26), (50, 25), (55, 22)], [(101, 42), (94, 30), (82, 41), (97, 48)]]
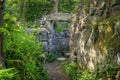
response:
[[(71, 13), (77, 2), (78, 0), (60, 0), (58, 5), (59, 12)], [(18, 17), (19, 20), (34, 21), (42, 17), (42, 15), (49, 14), (53, 11), (53, 1), (6, 0), (5, 7), (5, 13), (9, 11), (11, 16)], [(7, 16), (9, 15), (7, 14)], [(8, 19), (10, 18), (8, 17)]]

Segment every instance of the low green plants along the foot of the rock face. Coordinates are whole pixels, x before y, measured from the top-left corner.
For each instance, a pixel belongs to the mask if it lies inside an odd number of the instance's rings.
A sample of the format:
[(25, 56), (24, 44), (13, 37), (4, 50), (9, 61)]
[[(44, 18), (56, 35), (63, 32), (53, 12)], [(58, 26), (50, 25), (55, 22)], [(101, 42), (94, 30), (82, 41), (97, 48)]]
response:
[(95, 71), (83, 70), (78, 63), (62, 62), (63, 69), (68, 75), (69, 80), (115, 80), (119, 76), (120, 66), (106, 65), (103, 71), (97, 68)]

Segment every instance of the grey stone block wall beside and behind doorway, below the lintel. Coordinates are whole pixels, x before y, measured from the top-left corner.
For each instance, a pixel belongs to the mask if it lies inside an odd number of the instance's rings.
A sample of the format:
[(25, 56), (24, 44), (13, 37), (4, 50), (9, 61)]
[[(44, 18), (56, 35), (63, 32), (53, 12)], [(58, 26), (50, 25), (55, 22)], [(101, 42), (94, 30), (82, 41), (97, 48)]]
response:
[[(51, 33), (46, 28), (38, 29), (27, 29), (28, 34), (34, 32), (37, 41), (42, 42), (43, 52), (52, 54), (52, 53), (64, 53), (69, 51), (69, 33), (68, 29), (65, 29), (62, 32), (53, 32), (52, 40)], [(51, 43), (52, 42), (52, 43)], [(52, 44), (52, 45), (50, 45)]]

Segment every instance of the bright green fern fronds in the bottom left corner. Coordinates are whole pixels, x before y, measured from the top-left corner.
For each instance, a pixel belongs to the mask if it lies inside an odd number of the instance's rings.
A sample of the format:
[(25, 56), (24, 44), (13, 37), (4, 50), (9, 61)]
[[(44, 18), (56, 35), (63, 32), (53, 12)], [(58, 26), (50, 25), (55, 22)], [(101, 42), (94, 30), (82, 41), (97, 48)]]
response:
[(8, 80), (16, 75), (17, 71), (13, 68), (0, 70), (0, 80)]

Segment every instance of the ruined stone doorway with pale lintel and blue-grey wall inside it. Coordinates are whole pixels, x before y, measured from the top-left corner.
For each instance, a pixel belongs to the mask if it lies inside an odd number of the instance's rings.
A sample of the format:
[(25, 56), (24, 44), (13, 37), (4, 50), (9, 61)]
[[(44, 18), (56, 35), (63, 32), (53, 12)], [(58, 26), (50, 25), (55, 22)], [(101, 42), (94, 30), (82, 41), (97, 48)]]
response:
[[(69, 13), (52, 13), (44, 15), (41, 19), (36, 19), (35, 23), (40, 27), (43, 27), (46, 31), (37, 33), (38, 40), (42, 40), (43, 50), (49, 54), (52, 53), (64, 53), (69, 51), (69, 33), (66, 27), (62, 26), (62, 31), (55, 31), (55, 28), (58, 27), (58, 23), (68, 23), (69, 22)], [(68, 27), (68, 26), (67, 26)], [(43, 34), (46, 35), (43, 35)], [(41, 37), (40, 37), (41, 36)], [(46, 40), (43, 41), (44, 37)]]

